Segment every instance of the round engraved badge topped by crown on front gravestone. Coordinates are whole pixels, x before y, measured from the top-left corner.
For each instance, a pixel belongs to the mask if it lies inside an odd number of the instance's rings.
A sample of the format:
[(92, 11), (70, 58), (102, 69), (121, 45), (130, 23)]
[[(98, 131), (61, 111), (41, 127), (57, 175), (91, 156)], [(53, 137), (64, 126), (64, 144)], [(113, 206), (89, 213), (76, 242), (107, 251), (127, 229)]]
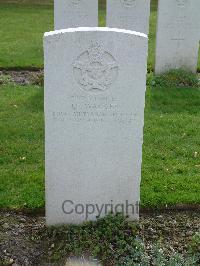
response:
[(119, 66), (114, 57), (98, 43), (78, 56), (73, 64), (73, 73), (80, 87), (85, 91), (107, 90), (117, 79)]

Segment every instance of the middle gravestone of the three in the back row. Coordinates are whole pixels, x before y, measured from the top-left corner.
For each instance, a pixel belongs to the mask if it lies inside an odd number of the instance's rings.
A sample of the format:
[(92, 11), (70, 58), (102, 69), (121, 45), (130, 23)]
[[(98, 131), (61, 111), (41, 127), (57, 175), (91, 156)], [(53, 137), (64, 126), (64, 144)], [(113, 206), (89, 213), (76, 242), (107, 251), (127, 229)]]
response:
[(150, 0), (108, 0), (106, 25), (148, 34)]

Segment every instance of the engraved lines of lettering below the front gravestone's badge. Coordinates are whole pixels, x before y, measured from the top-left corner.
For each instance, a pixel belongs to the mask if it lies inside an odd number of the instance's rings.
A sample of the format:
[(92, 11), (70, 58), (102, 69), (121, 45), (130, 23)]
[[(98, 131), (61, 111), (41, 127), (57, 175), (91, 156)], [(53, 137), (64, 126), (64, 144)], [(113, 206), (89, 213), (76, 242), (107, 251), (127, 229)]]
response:
[(55, 121), (73, 121), (77, 123), (110, 123), (129, 125), (136, 114), (126, 112), (119, 101), (108, 96), (69, 96), (67, 110), (52, 112)]

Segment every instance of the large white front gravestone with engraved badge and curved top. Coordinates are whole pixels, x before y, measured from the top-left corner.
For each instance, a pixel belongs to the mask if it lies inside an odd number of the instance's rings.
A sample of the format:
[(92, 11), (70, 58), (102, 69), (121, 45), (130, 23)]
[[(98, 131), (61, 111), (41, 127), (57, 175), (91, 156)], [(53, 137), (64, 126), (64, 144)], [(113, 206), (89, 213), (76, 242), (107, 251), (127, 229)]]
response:
[(45, 34), (48, 225), (138, 219), (147, 46), (120, 29)]

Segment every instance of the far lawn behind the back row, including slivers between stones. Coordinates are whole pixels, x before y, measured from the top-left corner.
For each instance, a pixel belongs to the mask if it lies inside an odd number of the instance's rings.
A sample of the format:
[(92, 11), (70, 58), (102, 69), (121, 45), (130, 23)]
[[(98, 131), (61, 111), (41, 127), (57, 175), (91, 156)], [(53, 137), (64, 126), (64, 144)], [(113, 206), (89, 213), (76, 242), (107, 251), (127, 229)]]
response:
[[(47, 2), (52, 1), (29, 0), (25, 1), (24, 4), (6, 4), (5, 2), (5, 0), (0, 0), (0, 67), (42, 67), (43, 33), (53, 30), (53, 5), (47, 4)], [(14, 2), (17, 2), (17, 0)], [(40, 4), (32, 4), (34, 2), (40, 2)], [(157, 0), (152, 0), (149, 35), (149, 70), (152, 70), (154, 67), (156, 18)], [(100, 2), (99, 23), (100, 26), (105, 26), (104, 0)]]

